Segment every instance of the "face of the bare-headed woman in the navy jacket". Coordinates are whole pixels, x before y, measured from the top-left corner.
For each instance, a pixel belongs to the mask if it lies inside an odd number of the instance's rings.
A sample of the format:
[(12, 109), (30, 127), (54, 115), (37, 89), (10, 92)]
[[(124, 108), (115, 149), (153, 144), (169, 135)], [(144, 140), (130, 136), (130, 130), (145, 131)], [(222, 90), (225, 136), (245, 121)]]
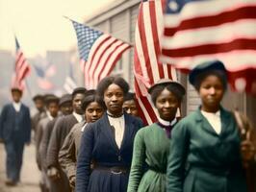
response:
[(112, 114), (122, 113), (123, 90), (117, 84), (110, 84), (104, 92), (105, 105)]

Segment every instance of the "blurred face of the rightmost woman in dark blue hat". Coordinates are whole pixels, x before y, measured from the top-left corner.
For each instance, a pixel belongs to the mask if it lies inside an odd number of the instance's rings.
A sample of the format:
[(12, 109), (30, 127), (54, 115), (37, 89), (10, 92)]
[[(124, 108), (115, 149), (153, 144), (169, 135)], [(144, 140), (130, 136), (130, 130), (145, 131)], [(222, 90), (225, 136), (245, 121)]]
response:
[(202, 101), (202, 109), (207, 112), (218, 111), (219, 104), (225, 89), (220, 79), (215, 75), (209, 75), (200, 84), (199, 96)]

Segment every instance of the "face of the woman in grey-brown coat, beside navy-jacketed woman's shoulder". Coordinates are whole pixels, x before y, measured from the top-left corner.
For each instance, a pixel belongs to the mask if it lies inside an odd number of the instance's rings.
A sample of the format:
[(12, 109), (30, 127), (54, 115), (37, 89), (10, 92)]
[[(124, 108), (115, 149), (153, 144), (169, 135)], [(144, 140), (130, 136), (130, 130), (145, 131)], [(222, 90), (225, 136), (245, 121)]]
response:
[(97, 102), (91, 102), (86, 109), (86, 121), (97, 121), (103, 115), (103, 112), (104, 109)]

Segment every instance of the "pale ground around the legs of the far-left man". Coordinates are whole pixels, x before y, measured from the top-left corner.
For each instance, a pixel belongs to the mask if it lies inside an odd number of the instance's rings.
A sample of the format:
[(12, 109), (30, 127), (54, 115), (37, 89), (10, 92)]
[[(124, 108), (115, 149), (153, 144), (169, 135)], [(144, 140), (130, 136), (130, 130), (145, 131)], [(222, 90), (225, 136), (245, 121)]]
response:
[(36, 164), (35, 145), (26, 146), (23, 155), (23, 166), (21, 177), (16, 186), (7, 187), (5, 185), (5, 149), (4, 145), (0, 144), (0, 192), (39, 192), (38, 181), (40, 174)]

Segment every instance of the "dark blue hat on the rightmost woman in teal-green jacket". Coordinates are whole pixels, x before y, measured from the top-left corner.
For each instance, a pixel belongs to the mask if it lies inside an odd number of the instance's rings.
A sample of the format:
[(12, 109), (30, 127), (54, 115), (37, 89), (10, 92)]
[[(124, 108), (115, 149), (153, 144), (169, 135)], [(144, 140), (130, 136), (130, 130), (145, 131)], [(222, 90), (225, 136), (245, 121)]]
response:
[(211, 60), (202, 62), (201, 64), (196, 65), (189, 76), (189, 81), (191, 84), (195, 84), (196, 77), (202, 73), (208, 72), (208, 71), (220, 71), (223, 72), (223, 74), (226, 74), (226, 68), (220, 60)]

